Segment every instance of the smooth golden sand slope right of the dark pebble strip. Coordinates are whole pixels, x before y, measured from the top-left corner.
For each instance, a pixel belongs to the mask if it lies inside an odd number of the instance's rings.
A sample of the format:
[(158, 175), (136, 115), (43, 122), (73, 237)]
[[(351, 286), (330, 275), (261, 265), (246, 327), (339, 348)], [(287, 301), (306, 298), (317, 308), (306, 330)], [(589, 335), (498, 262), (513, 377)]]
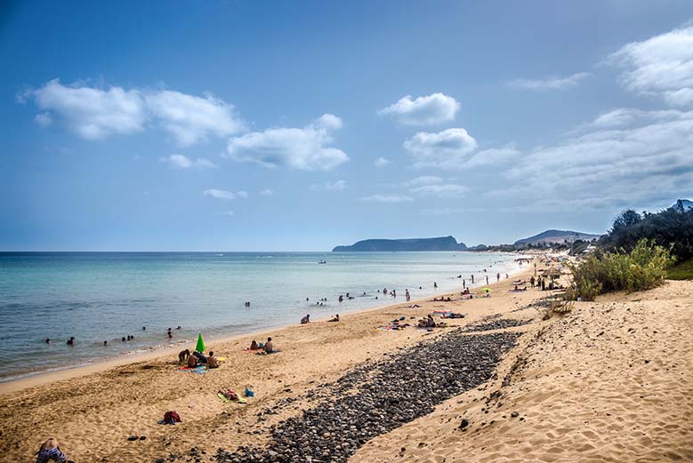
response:
[(691, 332), (693, 282), (578, 303), (525, 335), (496, 381), (351, 461), (693, 461)]

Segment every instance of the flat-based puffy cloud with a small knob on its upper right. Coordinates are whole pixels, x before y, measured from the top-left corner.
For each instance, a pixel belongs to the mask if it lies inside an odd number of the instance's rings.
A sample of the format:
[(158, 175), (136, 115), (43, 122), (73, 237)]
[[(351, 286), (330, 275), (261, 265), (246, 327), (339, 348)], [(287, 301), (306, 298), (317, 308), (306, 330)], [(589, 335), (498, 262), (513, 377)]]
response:
[(349, 161), (342, 150), (332, 148), (332, 132), (342, 120), (326, 114), (299, 128), (278, 127), (246, 133), (229, 140), (226, 157), (265, 167), (287, 167), (302, 171), (329, 171)]

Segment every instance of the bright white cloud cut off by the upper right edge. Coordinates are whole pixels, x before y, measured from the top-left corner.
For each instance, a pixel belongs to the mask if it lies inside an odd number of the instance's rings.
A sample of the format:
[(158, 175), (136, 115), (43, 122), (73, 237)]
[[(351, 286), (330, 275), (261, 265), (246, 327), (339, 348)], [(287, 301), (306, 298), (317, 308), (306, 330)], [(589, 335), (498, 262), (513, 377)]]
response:
[(621, 82), (631, 92), (658, 95), (673, 106), (693, 103), (693, 27), (626, 44), (608, 62), (623, 69)]

